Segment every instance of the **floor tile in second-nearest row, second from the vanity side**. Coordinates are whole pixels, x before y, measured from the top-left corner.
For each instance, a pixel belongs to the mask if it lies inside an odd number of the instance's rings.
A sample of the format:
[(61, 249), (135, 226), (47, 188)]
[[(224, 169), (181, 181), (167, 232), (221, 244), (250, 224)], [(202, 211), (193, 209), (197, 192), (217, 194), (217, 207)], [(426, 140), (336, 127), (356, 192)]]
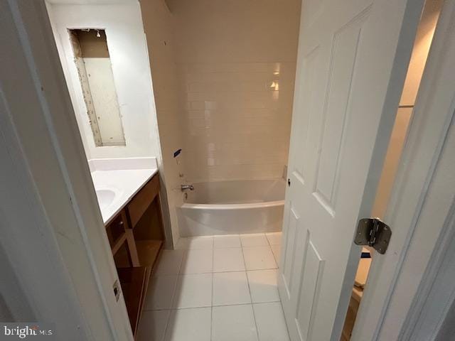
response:
[(174, 308), (210, 307), (212, 305), (212, 274), (178, 276), (172, 305)]

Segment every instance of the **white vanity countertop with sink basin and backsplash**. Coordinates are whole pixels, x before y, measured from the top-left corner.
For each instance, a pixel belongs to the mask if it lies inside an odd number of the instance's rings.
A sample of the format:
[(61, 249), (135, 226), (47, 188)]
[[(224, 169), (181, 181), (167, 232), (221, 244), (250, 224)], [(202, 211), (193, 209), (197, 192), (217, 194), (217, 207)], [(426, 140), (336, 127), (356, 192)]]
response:
[(90, 160), (89, 164), (105, 224), (158, 172), (154, 158)]

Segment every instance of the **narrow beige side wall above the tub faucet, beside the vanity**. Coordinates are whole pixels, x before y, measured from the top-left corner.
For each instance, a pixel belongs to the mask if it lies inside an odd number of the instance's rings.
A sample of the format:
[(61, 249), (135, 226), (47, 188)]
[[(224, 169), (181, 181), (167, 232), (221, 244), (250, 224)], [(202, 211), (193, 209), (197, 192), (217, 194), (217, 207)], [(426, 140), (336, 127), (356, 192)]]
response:
[[(159, 124), (163, 172), (173, 241), (178, 240), (176, 207), (183, 203), (180, 185), (186, 181), (186, 146), (183, 136), (186, 126), (182, 119), (178, 99), (178, 82), (175, 63), (172, 15), (164, 0), (141, 1), (142, 20), (149, 50), (151, 75), (154, 82), (156, 114)], [(178, 158), (173, 152), (182, 148)]]

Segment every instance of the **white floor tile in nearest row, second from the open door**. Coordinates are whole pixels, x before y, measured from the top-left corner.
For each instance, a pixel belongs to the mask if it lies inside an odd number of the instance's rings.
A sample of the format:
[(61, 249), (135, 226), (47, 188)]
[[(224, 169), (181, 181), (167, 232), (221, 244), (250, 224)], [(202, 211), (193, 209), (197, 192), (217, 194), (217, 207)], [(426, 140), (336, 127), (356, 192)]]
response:
[(252, 305), (213, 307), (212, 341), (257, 341)]

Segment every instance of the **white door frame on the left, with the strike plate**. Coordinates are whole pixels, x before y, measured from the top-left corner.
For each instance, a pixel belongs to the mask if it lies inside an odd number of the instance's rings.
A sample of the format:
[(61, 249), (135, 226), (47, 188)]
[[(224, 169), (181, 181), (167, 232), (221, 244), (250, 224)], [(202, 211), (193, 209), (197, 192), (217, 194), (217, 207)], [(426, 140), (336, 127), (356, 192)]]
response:
[(60, 339), (133, 340), (45, 1), (0, 9), (1, 303)]

